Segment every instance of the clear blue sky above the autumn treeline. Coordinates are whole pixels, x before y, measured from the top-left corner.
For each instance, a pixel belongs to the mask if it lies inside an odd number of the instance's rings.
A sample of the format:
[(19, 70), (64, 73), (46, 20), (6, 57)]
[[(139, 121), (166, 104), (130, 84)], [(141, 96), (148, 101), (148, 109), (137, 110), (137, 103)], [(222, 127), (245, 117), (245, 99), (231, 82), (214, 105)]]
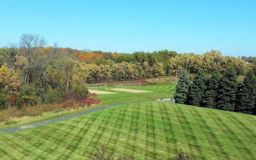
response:
[(77, 49), (256, 56), (256, 0), (0, 0), (0, 47), (23, 33)]

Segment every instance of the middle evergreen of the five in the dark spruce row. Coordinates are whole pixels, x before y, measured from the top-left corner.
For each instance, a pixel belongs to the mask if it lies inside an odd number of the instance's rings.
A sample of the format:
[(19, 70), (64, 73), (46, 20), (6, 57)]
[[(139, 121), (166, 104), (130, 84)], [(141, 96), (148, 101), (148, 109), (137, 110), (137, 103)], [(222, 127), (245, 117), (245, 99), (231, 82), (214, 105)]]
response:
[(218, 71), (212, 73), (212, 77), (206, 84), (206, 91), (203, 97), (203, 107), (217, 108), (217, 94), (219, 89), (221, 74)]

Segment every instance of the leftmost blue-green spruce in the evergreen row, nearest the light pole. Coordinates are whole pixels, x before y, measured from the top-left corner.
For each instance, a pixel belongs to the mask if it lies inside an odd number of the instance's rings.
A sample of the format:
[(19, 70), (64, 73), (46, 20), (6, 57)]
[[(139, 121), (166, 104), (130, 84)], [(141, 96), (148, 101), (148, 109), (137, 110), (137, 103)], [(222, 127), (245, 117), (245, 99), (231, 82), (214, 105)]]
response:
[(189, 86), (190, 80), (186, 70), (184, 70), (180, 76), (180, 80), (178, 80), (176, 92), (174, 93), (175, 103), (185, 104), (187, 102)]

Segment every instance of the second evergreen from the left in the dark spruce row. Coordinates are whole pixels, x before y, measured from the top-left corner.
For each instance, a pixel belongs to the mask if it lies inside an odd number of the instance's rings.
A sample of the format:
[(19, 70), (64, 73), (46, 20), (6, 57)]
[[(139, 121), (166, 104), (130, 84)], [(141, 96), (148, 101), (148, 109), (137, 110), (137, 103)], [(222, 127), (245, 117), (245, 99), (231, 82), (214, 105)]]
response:
[(189, 90), (189, 104), (202, 106), (202, 98), (206, 90), (207, 75), (204, 70), (199, 70)]

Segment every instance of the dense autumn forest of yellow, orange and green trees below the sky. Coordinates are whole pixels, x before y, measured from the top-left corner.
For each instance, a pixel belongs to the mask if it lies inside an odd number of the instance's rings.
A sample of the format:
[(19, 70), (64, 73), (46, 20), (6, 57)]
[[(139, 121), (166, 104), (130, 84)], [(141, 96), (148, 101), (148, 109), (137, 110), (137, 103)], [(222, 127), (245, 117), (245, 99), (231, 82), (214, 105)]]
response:
[(2, 108), (57, 102), (59, 96), (55, 94), (81, 89), (81, 84), (168, 76), (177, 69), (190, 73), (202, 69), (211, 74), (214, 70), (223, 73), (234, 66), (237, 75), (245, 75), (251, 69), (256, 71), (255, 59), (222, 56), (217, 50), (202, 55), (169, 50), (124, 54), (46, 44), (40, 35), (23, 34), (18, 44), (0, 48)]

